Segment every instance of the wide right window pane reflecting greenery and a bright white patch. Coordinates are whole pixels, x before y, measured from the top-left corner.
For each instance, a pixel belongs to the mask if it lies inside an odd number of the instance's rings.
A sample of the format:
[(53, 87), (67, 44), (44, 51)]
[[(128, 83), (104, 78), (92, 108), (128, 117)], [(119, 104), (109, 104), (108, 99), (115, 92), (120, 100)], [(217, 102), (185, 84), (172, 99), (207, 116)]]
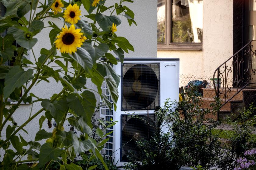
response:
[(172, 42), (203, 42), (203, 0), (172, 1)]

